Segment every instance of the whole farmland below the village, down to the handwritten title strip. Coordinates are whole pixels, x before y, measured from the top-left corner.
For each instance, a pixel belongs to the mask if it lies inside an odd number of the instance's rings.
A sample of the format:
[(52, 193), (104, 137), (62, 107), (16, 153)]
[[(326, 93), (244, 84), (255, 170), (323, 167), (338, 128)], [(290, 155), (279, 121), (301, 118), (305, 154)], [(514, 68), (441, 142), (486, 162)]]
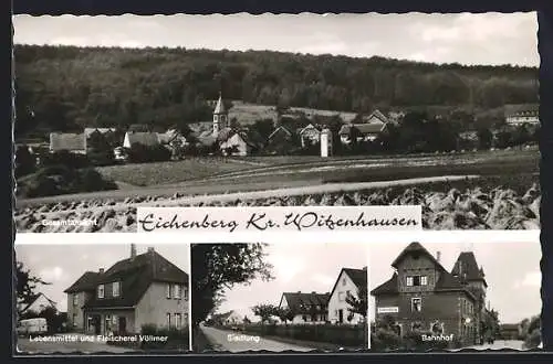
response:
[[(395, 158), (191, 159), (98, 169), (116, 191), (18, 200), (20, 232), (134, 232), (148, 206), (422, 206), (428, 229), (540, 228), (536, 150)], [(93, 218), (97, 225), (43, 226)]]

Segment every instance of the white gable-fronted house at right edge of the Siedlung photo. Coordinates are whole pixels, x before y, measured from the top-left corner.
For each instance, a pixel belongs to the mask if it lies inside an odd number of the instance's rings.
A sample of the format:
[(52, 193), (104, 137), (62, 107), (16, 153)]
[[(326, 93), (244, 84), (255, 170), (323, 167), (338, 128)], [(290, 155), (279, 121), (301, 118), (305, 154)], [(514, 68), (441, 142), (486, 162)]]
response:
[(363, 269), (342, 268), (328, 299), (328, 321), (335, 324), (365, 322), (365, 315), (352, 312), (347, 297), (358, 298), (359, 291), (366, 287), (367, 267)]

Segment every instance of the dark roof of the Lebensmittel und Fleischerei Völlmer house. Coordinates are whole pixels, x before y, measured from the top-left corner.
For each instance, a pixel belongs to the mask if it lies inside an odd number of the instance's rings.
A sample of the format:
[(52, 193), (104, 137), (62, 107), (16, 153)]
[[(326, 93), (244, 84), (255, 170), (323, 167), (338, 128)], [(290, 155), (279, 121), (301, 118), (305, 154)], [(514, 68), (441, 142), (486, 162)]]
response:
[[(86, 274), (85, 274), (86, 275)], [(83, 276), (84, 277), (84, 276)], [(139, 302), (153, 282), (173, 282), (188, 285), (188, 275), (155, 250), (117, 261), (109, 269), (96, 276), (88, 275), (84, 282), (73, 283), (66, 292), (102, 283), (121, 282), (121, 296), (98, 299), (96, 295), (86, 302), (85, 308), (133, 307)], [(82, 289), (85, 290), (85, 289)], [(88, 290), (88, 289), (86, 289)]]

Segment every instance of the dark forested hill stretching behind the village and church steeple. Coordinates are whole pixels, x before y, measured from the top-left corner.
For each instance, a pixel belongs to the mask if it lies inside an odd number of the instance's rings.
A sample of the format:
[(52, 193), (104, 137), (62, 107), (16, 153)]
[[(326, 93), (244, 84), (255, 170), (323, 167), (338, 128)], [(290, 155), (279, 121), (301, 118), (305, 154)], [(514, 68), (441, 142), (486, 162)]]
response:
[(366, 113), (538, 100), (538, 69), (269, 51), (17, 45), (18, 132), (209, 120), (207, 99)]

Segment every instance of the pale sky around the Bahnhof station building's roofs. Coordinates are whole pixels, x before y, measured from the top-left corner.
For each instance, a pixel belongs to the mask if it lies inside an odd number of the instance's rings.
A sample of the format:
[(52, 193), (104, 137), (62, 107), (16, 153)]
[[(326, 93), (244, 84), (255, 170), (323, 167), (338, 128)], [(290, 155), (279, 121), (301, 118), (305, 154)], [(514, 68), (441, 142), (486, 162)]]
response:
[[(488, 282), (487, 299), (499, 312), (502, 323), (517, 323), (541, 312), (540, 297), (542, 257), (540, 242), (525, 243), (478, 243), (478, 244), (425, 244), (430, 254), (441, 253), (444, 268), (451, 271), (461, 251), (474, 253), (482, 266)], [(392, 263), (408, 244), (372, 244), (371, 289), (388, 280), (394, 269)], [(501, 247), (499, 247), (501, 245)], [(374, 298), (369, 301), (369, 317), (374, 318)], [(373, 309), (371, 309), (371, 307)]]

